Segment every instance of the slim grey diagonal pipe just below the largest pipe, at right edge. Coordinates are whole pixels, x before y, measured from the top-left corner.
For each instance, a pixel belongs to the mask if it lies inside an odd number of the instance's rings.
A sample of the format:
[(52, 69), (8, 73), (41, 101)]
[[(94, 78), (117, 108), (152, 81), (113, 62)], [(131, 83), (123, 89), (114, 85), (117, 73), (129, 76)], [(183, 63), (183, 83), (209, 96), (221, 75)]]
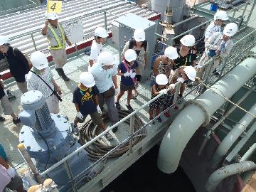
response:
[[(252, 106), (249, 112), (254, 115), (256, 114), (256, 104)], [(246, 127), (255, 118), (251, 114), (245, 114), (245, 116), (242, 117), (242, 119), (240, 119), (238, 124), (235, 125), (235, 127), (227, 134), (227, 136), (220, 143), (211, 161), (212, 168), (214, 168), (220, 163), (220, 161), (223, 159), (223, 156), (225, 156), (230, 147), (233, 146), (233, 144), (240, 137), (240, 135), (243, 132), (245, 132)]]

